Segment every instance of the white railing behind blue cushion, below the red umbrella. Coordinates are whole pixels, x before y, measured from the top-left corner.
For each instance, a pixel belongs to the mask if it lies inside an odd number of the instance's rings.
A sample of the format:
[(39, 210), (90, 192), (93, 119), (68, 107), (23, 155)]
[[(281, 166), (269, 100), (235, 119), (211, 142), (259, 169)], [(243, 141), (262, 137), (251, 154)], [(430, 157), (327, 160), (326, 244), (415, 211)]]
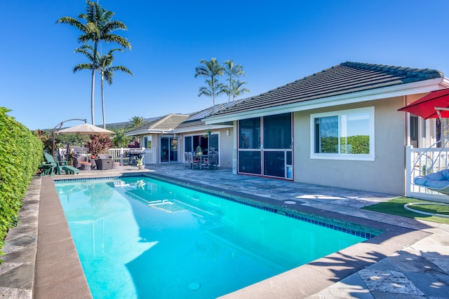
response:
[(415, 177), (439, 172), (449, 167), (449, 147), (441, 148), (406, 147), (406, 196), (422, 200), (449, 202), (448, 195), (443, 195), (413, 183)]

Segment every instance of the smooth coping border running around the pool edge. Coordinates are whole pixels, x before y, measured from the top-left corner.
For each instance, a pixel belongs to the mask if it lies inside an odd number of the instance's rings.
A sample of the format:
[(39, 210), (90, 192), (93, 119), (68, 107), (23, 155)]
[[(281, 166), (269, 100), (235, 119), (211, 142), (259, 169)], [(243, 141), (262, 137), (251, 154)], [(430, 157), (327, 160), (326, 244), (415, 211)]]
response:
[[(299, 209), (301, 212), (313, 212), (313, 214), (341, 219), (345, 222), (358, 223), (363, 226), (369, 223), (368, 226), (385, 231), (384, 234), (366, 242), (350, 246), (337, 253), (314, 260), (307, 265), (283, 272), (234, 293), (224, 295), (222, 298), (306, 298), (348, 277), (350, 274), (368, 265), (377, 263), (382, 258), (390, 256), (396, 251), (431, 235), (430, 232), (424, 232), (420, 228), (404, 228), (400, 225), (370, 221), (366, 218), (318, 210), (300, 204), (295, 204), (295, 207), (283, 207), (283, 202), (270, 198), (238, 193), (233, 190), (223, 190), (192, 181), (173, 179), (173, 177), (164, 176), (163, 174), (152, 174), (149, 172), (117, 173), (114, 176), (135, 176), (137, 174), (153, 177), (154, 179), (181, 181), (183, 184), (185, 183), (188, 186), (199, 189), (205, 188), (223, 194), (242, 196), (257, 202), (264, 202), (264, 204), (269, 204), (270, 206), (279, 207), (279, 209)], [(111, 175), (96, 174), (95, 177), (111, 177)], [(64, 176), (64, 178), (91, 179), (92, 177), (77, 175)], [(72, 235), (69, 232), (67, 221), (60, 205), (58, 193), (55, 189), (54, 179), (60, 179), (60, 177), (47, 176), (35, 178), (34, 180), (40, 179), (39, 229), (36, 238), (34, 281), (30, 281), (30, 284), (27, 284), (25, 288), (27, 288), (28, 293), (20, 296), (20, 298), (92, 298), (76, 253)], [(422, 228), (430, 228), (430, 226), (423, 224)]]

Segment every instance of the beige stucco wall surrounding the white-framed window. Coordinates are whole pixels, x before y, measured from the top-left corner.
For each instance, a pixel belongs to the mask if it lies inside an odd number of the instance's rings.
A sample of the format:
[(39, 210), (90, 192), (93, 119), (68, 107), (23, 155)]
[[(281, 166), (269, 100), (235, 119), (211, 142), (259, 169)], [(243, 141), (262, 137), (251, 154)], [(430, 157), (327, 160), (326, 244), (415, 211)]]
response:
[[(311, 113), (367, 106), (375, 107), (374, 161), (310, 158)], [(401, 106), (403, 97), (395, 97), (294, 113), (295, 181), (403, 195), (405, 113), (397, 111)]]

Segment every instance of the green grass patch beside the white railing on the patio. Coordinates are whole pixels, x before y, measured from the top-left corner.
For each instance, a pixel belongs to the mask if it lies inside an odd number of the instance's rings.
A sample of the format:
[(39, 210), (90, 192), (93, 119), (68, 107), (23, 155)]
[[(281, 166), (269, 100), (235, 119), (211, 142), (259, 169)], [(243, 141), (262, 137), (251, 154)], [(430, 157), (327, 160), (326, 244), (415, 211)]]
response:
[[(403, 216), (403, 217), (408, 217), (408, 218), (415, 218), (415, 219), (431, 221), (431, 222), (436, 222), (436, 223), (449, 224), (449, 218), (427, 216), (427, 215), (418, 214), (413, 211), (408, 211), (408, 210), (404, 209), (404, 204), (408, 204), (410, 202), (429, 202), (429, 201), (428, 200), (418, 200), (416, 198), (411, 198), (411, 197), (397, 197), (397, 198), (394, 198), (393, 200), (389, 200), (387, 202), (380, 202), (379, 204), (373, 204), (368, 207), (363, 207), (362, 209), (367, 209), (369, 211), (379, 211), (379, 212), (385, 213), (385, 214)], [(426, 211), (427, 213), (432, 213), (432, 214), (449, 215), (449, 206), (414, 205), (414, 206), (412, 206), (412, 208), (416, 209), (416, 210), (420, 210), (420, 211)]]

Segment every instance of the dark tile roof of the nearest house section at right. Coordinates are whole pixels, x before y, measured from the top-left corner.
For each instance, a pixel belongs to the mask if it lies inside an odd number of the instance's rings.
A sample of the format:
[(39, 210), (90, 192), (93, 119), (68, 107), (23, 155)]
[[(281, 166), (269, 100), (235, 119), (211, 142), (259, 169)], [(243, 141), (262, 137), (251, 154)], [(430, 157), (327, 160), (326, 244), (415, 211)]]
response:
[(443, 73), (434, 69), (344, 62), (261, 95), (241, 99), (232, 106), (223, 107), (212, 116), (227, 116), (433, 78), (443, 78)]

